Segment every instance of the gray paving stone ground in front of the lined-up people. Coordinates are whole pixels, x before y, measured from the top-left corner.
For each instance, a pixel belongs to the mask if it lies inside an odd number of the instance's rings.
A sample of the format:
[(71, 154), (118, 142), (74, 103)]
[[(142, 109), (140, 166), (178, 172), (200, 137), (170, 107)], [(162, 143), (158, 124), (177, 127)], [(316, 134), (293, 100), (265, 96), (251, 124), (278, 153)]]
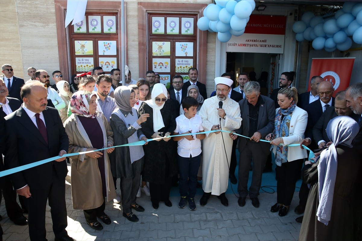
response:
[[(69, 168), (69, 167), (68, 167)], [(70, 172), (69, 172), (70, 173)], [(285, 217), (271, 213), (270, 207), (277, 199), (276, 193), (261, 193), (260, 207), (254, 208), (247, 198), (244, 207), (237, 205), (237, 197), (227, 194), (229, 206), (225, 207), (220, 200), (212, 196), (206, 206), (200, 206), (200, 195), (195, 197), (197, 210), (190, 211), (188, 206), (178, 208), (179, 197), (171, 197), (172, 207), (160, 202), (155, 210), (150, 197), (142, 195), (137, 202), (146, 211), (135, 212), (139, 221), (132, 223), (122, 216), (122, 206), (115, 203), (106, 205), (106, 214), (112, 223), (103, 225), (102, 231), (90, 228), (82, 210), (74, 210), (71, 201), (70, 177), (66, 179), (66, 203), (68, 210), (69, 236), (78, 241), (101, 240), (298, 240), (300, 224), (294, 208), (298, 205), (298, 192), (295, 192), (290, 211)], [(119, 186), (119, 185), (117, 185)], [(118, 190), (117, 190), (118, 191)], [(6, 215), (4, 201), (1, 202), (0, 221), (3, 227), (4, 241), (26, 241), (29, 239), (28, 226), (14, 225)], [(26, 215), (25, 215), (26, 216)], [(52, 232), (50, 207), (46, 210), (47, 239), (54, 240)]]

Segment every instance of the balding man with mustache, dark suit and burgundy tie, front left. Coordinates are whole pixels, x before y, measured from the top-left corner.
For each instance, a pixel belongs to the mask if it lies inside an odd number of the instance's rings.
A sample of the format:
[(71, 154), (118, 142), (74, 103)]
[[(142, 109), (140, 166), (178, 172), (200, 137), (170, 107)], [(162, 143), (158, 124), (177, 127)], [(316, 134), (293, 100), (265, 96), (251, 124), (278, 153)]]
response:
[[(68, 136), (55, 108), (47, 107), (47, 89), (40, 82), (21, 88), (24, 104), (5, 117), (7, 141), (5, 168), (11, 169), (62, 156), (68, 150)], [(55, 240), (73, 241), (66, 231), (67, 207), (64, 158), (10, 175), (14, 189), (26, 197), (30, 240), (46, 240), (45, 210), (49, 201)]]

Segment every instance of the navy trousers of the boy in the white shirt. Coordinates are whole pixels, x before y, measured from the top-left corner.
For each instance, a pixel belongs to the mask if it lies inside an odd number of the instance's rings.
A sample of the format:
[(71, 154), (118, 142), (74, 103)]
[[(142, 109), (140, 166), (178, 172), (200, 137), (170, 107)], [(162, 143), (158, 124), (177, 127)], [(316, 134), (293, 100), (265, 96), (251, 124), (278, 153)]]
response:
[[(177, 155), (178, 170), (180, 172), (180, 178), (178, 184), (180, 184), (181, 197), (194, 198), (196, 194), (197, 173), (201, 162), (201, 154), (194, 157), (182, 157)], [(189, 191), (189, 194), (187, 192)]]

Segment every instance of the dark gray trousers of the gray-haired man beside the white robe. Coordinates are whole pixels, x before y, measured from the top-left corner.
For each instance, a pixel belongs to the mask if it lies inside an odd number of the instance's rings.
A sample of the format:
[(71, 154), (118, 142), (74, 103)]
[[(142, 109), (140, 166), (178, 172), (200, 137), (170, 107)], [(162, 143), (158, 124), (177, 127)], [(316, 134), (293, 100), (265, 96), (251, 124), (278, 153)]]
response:
[[(239, 184), (237, 191), (240, 197), (255, 198), (259, 195), (261, 186), (261, 176), (266, 159), (270, 151), (261, 148), (260, 142), (247, 141), (243, 150), (240, 151), (239, 158)], [(253, 160), (253, 177), (248, 191), (248, 179), (251, 161)]]

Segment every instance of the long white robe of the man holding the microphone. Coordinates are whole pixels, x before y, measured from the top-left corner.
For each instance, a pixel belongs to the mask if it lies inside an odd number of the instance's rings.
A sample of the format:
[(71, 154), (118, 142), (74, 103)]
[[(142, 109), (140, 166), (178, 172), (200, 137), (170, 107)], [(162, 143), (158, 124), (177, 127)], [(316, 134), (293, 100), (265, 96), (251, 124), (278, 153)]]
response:
[[(213, 125), (219, 124), (217, 96), (206, 99), (201, 107), (199, 116), (205, 131), (210, 131)], [(227, 98), (223, 101), (226, 113), (225, 120), (221, 119), (222, 130), (236, 130), (241, 126), (240, 107), (237, 102)], [(223, 143), (224, 137), (224, 143)], [(209, 133), (203, 140), (202, 151), (202, 188), (206, 193), (220, 195), (228, 186), (229, 166), (231, 160), (232, 139), (229, 133)], [(226, 150), (226, 154), (225, 154)]]

